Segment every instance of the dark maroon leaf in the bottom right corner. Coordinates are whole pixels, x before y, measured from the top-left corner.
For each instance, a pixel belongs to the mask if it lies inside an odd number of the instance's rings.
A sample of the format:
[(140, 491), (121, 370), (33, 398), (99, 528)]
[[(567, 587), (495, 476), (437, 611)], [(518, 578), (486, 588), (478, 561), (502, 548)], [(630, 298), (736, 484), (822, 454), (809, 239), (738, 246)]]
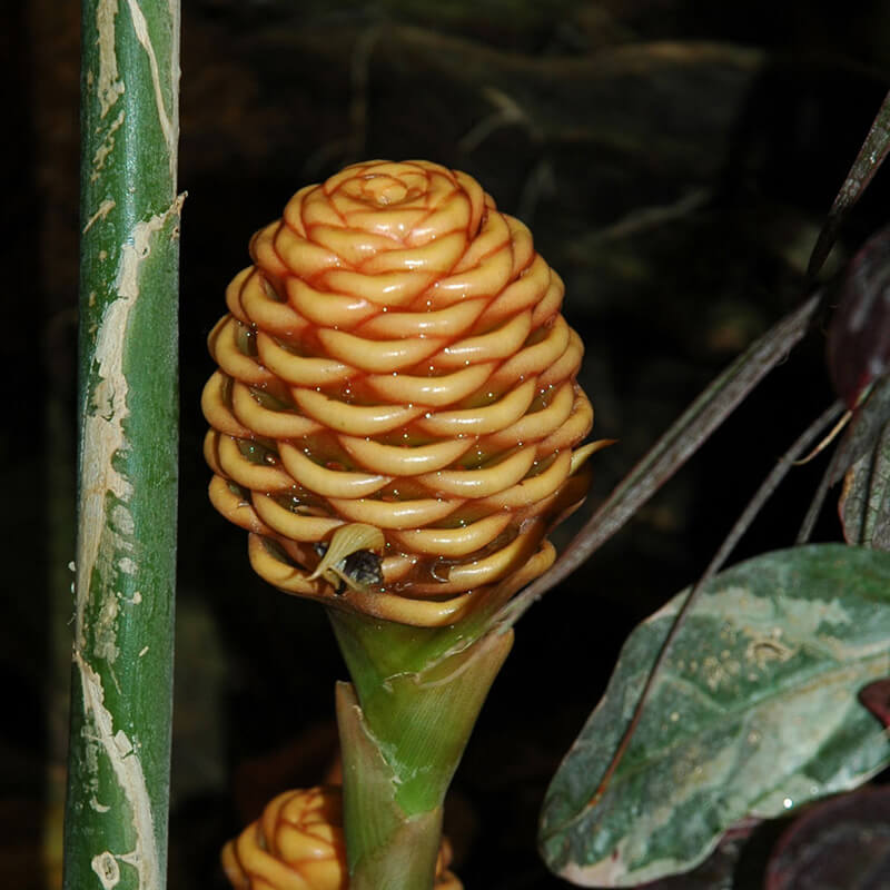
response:
[(880, 890), (890, 876), (890, 789), (843, 794), (798, 819), (780, 839), (765, 890)]

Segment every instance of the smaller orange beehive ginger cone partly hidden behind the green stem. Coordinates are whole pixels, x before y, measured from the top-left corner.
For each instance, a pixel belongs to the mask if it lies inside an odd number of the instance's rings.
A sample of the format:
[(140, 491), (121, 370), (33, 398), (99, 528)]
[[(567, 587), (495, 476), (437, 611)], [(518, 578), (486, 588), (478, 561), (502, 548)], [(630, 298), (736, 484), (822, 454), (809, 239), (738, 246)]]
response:
[[(443, 841), (434, 890), (462, 890), (449, 862)], [(347, 890), (342, 790), (319, 785), (278, 794), (222, 848), (222, 869), (234, 890)]]

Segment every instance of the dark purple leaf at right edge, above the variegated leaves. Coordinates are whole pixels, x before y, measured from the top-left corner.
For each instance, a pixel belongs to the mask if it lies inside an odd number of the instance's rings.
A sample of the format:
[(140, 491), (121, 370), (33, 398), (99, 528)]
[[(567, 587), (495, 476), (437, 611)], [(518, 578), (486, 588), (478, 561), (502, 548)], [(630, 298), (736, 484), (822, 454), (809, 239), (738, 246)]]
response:
[(828, 364), (834, 389), (850, 407), (890, 368), (890, 227), (869, 238), (843, 275)]

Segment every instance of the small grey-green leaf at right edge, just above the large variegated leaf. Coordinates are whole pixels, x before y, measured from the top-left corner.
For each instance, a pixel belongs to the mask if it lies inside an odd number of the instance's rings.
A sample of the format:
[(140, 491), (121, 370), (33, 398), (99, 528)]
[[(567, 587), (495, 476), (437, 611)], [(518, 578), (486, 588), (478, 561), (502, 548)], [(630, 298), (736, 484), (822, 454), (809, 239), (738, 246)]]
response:
[(851, 544), (890, 551), (890, 421), (847, 471), (839, 510)]

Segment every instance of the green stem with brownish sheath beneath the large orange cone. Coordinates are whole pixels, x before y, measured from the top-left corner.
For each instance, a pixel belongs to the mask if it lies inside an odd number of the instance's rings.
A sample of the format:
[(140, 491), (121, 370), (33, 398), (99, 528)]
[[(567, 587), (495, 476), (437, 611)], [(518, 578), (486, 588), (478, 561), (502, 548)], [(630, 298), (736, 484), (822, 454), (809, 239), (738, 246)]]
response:
[(354, 684), (337, 690), (350, 887), (429, 890), (445, 793), (513, 634), (443, 656), (441, 630), (330, 621)]

